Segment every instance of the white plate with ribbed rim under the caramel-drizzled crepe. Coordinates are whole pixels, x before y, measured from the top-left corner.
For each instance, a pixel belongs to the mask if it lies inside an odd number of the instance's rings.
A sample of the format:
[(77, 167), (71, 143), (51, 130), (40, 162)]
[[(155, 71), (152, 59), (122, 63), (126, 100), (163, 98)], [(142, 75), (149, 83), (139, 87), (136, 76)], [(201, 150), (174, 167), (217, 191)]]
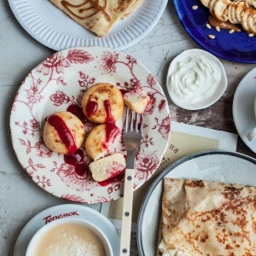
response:
[(126, 49), (153, 29), (166, 9), (167, 0), (143, 0), (137, 10), (119, 22), (105, 38), (99, 38), (69, 18), (49, 0), (9, 0), (20, 25), (38, 42), (51, 49), (104, 46)]

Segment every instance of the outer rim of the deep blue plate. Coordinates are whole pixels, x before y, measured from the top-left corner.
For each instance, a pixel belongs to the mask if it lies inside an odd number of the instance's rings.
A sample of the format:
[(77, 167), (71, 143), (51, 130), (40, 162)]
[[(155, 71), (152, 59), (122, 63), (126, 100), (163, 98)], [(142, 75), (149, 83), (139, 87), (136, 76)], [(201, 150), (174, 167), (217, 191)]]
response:
[[(189, 34), (190, 38), (192, 38), (195, 41), (195, 43), (199, 44), (203, 49), (206, 49), (205, 46), (201, 43), (201, 41), (195, 37), (195, 35), (187, 28), (187, 26), (185, 26), (183, 24), (183, 21), (180, 19), (180, 15), (178, 14), (178, 8), (177, 8), (178, 0), (173, 0), (172, 3), (174, 5), (174, 9), (176, 11), (177, 18), (180, 21), (180, 23), (182, 24), (184, 30)], [(255, 58), (255, 60), (252, 60), (252, 61), (241, 60), (241, 59), (236, 60), (236, 58), (231, 58), (228, 55), (219, 54), (218, 51), (213, 50), (211, 47), (206, 50), (209, 51), (210, 53), (212, 53), (213, 55), (216, 55), (216, 56), (218, 56), (224, 60), (227, 60), (227, 61), (235, 61), (235, 62), (248, 63), (248, 64), (256, 63), (256, 58)]]

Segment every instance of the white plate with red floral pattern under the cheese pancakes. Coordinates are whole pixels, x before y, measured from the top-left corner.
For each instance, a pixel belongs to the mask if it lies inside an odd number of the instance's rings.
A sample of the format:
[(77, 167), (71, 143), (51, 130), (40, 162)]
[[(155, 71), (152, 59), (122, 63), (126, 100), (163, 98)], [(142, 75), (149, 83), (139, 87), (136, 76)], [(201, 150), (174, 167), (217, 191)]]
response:
[[(50, 113), (79, 108), (84, 91), (92, 84), (107, 82), (120, 90), (141, 86), (151, 98), (144, 117), (143, 139), (137, 150), (134, 188), (145, 183), (160, 166), (170, 136), (171, 119), (166, 96), (152, 73), (131, 55), (101, 47), (65, 49), (49, 56), (35, 67), (21, 84), (10, 116), (15, 154), (21, 166), (40, 187), (69, 201), (96, 203), (122, 196), (122, 178), (97, 183), (90, 172), (77, 172), (44, 145), (42, 132)], [(122, 119), (116, 124), (120, 131)], [(94, 125), (84, 124), (90, 131)], [(90, 158), (84, 148), (84, 163)], [(113, 144), (113, 152), (124, 152), (122, 135)]]

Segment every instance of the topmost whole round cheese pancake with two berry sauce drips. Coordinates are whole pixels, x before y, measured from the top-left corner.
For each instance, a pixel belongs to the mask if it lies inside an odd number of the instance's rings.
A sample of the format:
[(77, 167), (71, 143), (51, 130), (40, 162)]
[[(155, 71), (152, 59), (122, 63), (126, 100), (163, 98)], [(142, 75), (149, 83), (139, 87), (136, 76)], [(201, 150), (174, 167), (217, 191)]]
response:
[(113, 84), (94, 84), (84, 93), (82, 108), (92, 122), (115, 122), (124, 112), (123, 96)]

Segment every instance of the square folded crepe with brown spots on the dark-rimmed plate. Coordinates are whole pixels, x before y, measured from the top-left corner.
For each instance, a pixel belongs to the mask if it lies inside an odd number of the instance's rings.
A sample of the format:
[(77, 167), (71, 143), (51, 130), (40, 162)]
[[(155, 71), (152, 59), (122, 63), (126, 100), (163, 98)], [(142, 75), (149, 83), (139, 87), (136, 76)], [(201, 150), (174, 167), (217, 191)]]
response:
[(164, 180), (162, 255), (255, 256), (256, 188)]

